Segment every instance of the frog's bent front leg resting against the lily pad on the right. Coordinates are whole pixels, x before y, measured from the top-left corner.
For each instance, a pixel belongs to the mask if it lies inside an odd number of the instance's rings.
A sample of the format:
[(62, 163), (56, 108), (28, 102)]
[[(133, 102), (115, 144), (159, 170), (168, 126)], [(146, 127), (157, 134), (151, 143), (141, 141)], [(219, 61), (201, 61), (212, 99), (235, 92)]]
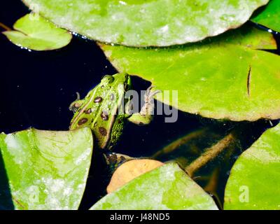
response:
[(145, 104), (141, 108), (139, 113), (133, 113), (128, 120), (136, 125), (148, 125), (153, 120), (153, 111), (155, 109), (155, 104), (153, 102), (153, 96), (160, 93), (160, 90), (152, 92), (154, 86), (148, 87), (146, 90), (144, 100)]

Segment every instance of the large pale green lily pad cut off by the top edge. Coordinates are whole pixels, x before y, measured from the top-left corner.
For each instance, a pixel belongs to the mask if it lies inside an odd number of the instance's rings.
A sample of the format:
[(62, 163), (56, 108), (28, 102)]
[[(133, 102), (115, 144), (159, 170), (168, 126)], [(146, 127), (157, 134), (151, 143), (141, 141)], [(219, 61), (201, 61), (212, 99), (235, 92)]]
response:
[[(239, 27), (268, 0), (23, 0), (59, 27), (131, 46), (200, 41)], [(34, 7), (36, 6), (36, 7)]]

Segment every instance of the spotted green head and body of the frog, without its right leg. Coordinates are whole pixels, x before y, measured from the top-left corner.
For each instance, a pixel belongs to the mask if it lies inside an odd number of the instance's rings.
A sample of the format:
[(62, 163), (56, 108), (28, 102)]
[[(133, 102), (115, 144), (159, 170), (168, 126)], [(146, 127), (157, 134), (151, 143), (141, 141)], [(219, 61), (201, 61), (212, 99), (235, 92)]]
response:
[(71, 104), (76, 106), (76, 113), (71, 120), (70, 130), (90, 127), (99, 148), (111, 148), (118, 140), (116, 137), (120, 137), (120, 134), (113, 132), (123, 132), (124, 116), (119, 119), (118, 110), (122, 106), (125, 92), (129, 89), (130, 77), (126, 73), (102, 78), (101, 83), (94, 87), (85, 99)]

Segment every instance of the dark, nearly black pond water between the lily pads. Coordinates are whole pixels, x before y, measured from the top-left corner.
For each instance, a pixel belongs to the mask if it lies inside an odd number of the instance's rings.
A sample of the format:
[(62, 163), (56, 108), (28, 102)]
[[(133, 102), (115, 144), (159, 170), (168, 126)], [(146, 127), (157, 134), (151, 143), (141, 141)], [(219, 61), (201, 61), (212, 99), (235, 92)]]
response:
[[(12, 27), (18, 18), (27, 13), (29, 10), (21, 1), (5, 1), (0, 6), (0, 22)], [(84, 97), (104, 75), (116, 73), (93, 41), (78, 36), (74, 36), (73, 41), (60, 50), (29, 52), (0, 35), (0, 52), (0, 132), (16, 132), (28, 127), (67, 130), (73, 115), (68, 108), (76, 99), (76, 92)], [(146, 90), (150, 85), (140, 78), (133, 78), (132, 82), (134, 89), (139, 91)], [(128, 124), (115, 151), (134, 157), (147, 157), (200, 127), (210, 127), (223, 136), (236, 125), (180, 111), (176, 123), (165, 123), (163, 116), (155, 116), (153, 123), (147, 127)], [(239, 150), (233, 153), (225, 164), (223, 158), (220, 158), (202, 170), (201, 174), (208, 174), (209, 170), (215, 167), (223, 167), (217, 190), (221, 200), (232, 163), (267, 127), (270, 127), (267, 121), (244, 123), (245, 138), (241, 139)], [(171, 159), (172, 157), (162, 158)], [(81, 209), (87, 209), (105, 194), (109, 176), (97, 172), (98, 166), (101, 166), (99, 158), (94, 158)], [(198, 182), (204, 186), (203, 182)]]

